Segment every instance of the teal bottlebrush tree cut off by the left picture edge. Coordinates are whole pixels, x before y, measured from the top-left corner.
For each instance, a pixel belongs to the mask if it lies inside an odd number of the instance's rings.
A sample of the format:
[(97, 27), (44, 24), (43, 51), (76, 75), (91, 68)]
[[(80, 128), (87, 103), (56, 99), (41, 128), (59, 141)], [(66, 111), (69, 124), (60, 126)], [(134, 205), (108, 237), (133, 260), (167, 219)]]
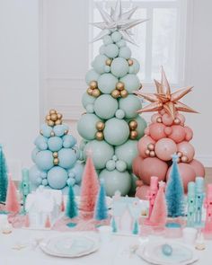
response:
[(5, 202), (6, 200), (7, 184), (7, 166), (3, 148), (0, 145), (0, 202)]

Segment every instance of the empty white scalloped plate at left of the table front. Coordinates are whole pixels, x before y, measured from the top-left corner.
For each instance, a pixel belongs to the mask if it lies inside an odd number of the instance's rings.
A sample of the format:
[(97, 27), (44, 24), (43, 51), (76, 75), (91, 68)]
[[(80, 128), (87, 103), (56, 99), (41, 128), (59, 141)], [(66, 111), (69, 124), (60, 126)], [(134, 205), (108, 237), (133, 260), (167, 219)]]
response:
[(76, 258), (96, 252), (99, 240), (84, 234), (66, 234), (41, 242), (40, 249), (52, 256)]

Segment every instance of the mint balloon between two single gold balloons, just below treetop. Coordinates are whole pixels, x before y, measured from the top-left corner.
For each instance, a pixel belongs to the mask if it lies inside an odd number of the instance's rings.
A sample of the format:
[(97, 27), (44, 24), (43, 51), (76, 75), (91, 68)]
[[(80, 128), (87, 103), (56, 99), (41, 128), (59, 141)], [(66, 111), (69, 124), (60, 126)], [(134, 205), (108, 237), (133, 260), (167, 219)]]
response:
[(110, 71), (112, 75), (122, 77), (128, 74), (128, 62), (122, 57), (117, 57), (112, 60)]

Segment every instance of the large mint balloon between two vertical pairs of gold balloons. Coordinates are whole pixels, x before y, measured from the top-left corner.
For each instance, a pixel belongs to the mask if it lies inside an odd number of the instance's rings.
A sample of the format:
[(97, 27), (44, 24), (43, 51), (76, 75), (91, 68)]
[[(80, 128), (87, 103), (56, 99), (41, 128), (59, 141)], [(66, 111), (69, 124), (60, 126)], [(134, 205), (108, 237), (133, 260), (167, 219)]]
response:
[(122, 145), (128, 140), (129, 128), (124, 119), (112, 118), (105, 122), (104, 138), (112, 146)]

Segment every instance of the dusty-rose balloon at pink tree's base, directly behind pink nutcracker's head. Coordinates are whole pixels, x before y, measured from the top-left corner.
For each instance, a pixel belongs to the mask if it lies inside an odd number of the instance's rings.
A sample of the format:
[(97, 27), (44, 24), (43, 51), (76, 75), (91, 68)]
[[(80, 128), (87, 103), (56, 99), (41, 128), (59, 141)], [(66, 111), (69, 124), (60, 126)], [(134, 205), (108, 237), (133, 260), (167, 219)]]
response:
[(139, 177), (149, 185), (151, 176), (158, 177), (158, 181), (164, 181), (167, 170), (167, 163), (156, 157), (148, 157), (140, 164)]

